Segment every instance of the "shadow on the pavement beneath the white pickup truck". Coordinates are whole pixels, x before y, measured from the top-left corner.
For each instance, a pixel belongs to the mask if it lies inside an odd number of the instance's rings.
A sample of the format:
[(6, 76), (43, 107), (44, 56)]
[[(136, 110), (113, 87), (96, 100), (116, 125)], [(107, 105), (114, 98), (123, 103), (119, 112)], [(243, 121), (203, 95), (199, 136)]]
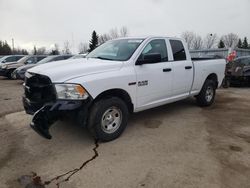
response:
[[(149, 109), (143, 112), (134, 113), (129, 118), (129, 123), (126, 129), (130, 129), (137, 123), (144, 123), (147, 128), (159, 127), (162, 117), (167, 117), (186, 110), (186, 108), (199, 108), (196, 105), (194, 98), (188, 98), (175, 103), (167, 104), (157, 108)], [(64, 119), (52, 125), (51, 129), (52, 142), (60, 141), (62, 138), (68, 141), (73, 140), (80, 143), (92, 143), (93, 137), (89, 134), (87, 128), (81, 127), (72, 119)], [(125, 130), (126, 132), (127, 130)], [(67, 134), (67, 138), (65, 137)], [(119, 139), (119, 138), (118, 138)]]

